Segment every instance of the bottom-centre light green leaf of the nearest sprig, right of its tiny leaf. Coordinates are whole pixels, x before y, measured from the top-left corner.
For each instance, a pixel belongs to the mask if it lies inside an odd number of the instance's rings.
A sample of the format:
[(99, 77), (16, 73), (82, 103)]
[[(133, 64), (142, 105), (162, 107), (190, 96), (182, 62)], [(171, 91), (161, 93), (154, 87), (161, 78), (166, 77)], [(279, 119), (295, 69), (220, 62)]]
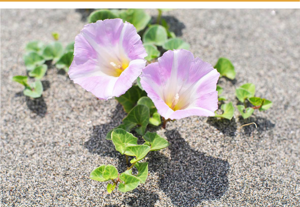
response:
[(122, 193), (126, 193), (128, 191), (132, 191), (135, 189), (138, 184), (140, 183), (140, 180), (136, 178), (135, 176), (131, 175), (132, 171), (128, 170), (125, 171), (120, 175), (120, 180), (123, 181), (124, 183), (120, 183), (118, 186), (118, 191)]

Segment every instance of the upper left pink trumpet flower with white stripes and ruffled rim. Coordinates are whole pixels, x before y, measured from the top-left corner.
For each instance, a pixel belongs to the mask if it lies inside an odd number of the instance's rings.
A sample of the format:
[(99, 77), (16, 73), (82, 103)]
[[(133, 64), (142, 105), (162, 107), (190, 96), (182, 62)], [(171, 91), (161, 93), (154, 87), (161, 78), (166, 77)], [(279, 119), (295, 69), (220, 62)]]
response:
[(98, 20), (75, 37), (68, 75), (99, 99), (124, 94), (144, 68), (147, 56), (135, 27), (121, 19)]

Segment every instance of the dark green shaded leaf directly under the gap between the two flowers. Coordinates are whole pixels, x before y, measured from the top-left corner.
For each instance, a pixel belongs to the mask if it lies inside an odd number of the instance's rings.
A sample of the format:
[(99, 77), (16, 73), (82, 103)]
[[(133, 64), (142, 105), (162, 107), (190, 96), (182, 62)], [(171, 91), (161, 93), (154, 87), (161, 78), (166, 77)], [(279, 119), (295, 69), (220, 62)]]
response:
[(147, 93), (142, 91), (137, 85), (132, 86), (125, 94), (115, 99), (123, 106), (124, 111), (128, 113), (136, 104), (138, 99), (142, 96), (146, 96)]

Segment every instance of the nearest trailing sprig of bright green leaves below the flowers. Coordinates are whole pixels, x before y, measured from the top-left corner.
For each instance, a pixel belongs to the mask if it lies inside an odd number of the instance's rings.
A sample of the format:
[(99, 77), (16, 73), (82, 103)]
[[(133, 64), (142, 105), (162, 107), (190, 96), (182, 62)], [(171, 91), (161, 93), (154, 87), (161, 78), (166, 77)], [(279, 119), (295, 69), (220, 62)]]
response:
[[(148, 176), (148, 163), (140, 162), (149, 152), (166, 148), (169, 143), (157, 133), (147, 132), (142, 136), (144, 143), (137, 144), (138, 138), (122, 128), (113, 129), (109, 138), (115, 150), (121, 155), (133, 158), (130, 160), (131, 166), (123, 173), (118, 173), (112, 165), (101, 165), (90, 173), (90, 179), (100, 182), (112, 181), (107, 184), (107, 192), (111, 193), (118, 184), (117, 190), (128, 192), (135, 189), (138, 184), (144, 184)], [(137, 174), (132, 174), (132, 168), (137, 170)]]

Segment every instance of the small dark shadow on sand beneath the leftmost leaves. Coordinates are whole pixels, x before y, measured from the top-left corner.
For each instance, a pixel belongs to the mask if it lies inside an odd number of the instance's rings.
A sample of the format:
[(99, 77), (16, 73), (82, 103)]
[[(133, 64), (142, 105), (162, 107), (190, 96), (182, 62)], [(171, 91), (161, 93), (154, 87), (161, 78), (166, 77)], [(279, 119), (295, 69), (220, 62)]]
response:
[(47, 105), (42, 96), (39, 98), (30, 98), (25, 96), (25, 101), (28, 109), (37, 116), (44, 117), (47, 113)]

